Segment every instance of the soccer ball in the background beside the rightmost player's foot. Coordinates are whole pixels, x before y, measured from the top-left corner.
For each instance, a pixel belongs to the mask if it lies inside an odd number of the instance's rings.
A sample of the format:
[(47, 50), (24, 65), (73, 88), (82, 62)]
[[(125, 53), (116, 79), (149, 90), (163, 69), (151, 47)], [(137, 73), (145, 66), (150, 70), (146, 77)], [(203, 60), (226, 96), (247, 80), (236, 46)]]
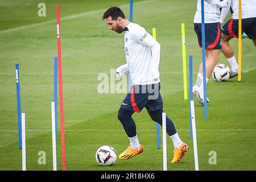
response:
[(229, 78), (230, 69), (225, 64), (218, 64), (214, 67), (212, 77), (215, 81), (227, 81)]

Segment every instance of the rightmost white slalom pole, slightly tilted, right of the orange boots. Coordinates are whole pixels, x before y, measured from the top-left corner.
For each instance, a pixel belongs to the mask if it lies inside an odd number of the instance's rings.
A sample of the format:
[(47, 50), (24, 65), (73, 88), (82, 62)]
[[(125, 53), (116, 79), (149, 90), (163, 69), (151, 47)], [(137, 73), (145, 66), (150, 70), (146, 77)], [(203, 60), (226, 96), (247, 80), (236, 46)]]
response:
[(191, 121), (192, 121), (192, 133), (193, 133), (193, 148), (194, 148), (195, 170), (199, 171), (198, 155), (197, 155), (196, 118), (195, 118), (194, 101), (190, 101), (190, 109), (191, 109)]

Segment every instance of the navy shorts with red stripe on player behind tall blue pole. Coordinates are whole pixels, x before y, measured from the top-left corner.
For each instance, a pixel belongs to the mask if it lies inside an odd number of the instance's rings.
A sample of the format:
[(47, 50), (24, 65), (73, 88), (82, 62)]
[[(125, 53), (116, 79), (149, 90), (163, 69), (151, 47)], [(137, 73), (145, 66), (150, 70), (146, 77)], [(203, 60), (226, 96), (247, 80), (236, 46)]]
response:
[[(220, 23), (205, 23), (205, 49), (221, 49), (222, 38)], [(194, 23), (199, 46), (202, 47), (201, 23)]]

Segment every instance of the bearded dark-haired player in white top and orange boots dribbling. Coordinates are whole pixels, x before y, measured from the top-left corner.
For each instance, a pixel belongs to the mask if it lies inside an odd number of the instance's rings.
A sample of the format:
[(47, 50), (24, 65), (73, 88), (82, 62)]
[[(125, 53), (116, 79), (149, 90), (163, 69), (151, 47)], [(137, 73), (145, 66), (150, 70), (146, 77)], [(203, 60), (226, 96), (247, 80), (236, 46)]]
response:
[[(117, 76), (129, 71), (133, 86), (122, 101), (118, 119), (122, 123), (130, 146), (119, 155), (119, 159), (130, 159), (144, 150), (139, 143), (135, 122), (131, 115), (140, 113), (146, 107), (151, 119), (162, 126), (163, 101), (160, 90), (160, 44), (139, 24), (129, 22), (118, 7), (110, 7), (102, 19), (106, 19), (109, 30), (124, 33), (126, 64), (116, 69)], [(174, 158), (177, 163), (189, 150), (175, 129), (174, 123), (166, 117), (167, 134), (174, 143)]]

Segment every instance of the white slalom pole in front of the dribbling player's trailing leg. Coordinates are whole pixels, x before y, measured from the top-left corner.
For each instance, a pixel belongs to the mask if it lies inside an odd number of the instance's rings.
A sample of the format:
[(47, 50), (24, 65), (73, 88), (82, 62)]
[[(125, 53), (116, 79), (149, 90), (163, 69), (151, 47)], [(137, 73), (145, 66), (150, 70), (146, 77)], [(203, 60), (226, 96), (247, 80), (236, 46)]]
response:
[(163, 131), (163, 171), (167, 171), (167, 144), (166, 144), (166, 113), (162, 113)]

